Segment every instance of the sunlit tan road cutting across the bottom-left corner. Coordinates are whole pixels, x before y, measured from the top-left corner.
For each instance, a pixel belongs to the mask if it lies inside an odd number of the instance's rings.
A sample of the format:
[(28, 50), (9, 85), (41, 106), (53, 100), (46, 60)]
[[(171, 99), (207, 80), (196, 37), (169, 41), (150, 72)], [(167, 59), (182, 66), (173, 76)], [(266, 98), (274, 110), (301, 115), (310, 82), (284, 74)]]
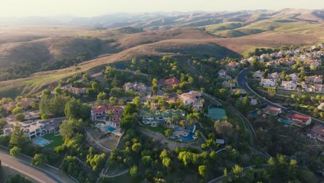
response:
[(42, 171), (39, 171), (36, 168), (33, 168), (32, 166), (28, 166), (28, 162), (23, 162), (21, 160), (15, 159), (14, 157), (6, 155), (5, 153), (0, 152), (0, 159), (3, 164), (6, 164), (15, 171), (18, 171), (19, 173), (22, 173), (37, 182), (62, 182), (56, 177), (53, 177), (53, 175), (46, 175), (46, 173), (43, 173)]

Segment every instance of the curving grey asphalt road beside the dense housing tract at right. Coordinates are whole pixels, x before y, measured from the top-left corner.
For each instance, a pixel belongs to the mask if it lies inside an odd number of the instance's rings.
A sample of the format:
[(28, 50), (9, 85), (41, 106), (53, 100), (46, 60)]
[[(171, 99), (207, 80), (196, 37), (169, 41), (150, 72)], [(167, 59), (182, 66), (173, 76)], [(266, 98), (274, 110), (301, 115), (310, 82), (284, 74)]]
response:
[[(259, 94), (255, 93), (250, 87), (249, 85), (247, 85), (248, 79), (246, 78), (246, 73), (248, 73), (250, 71), (250, 68), (244, 69), (242, 70), (239, 75), (237, 76), (237, 85), (239, 85), (242, 89), (245, 89), (247, 92), (250, 92), (251, 94), (253, 94), (253, 96), (256, 96), (258, 98), (260, 98), (260, 101), (264, 104), (273, 106), (273, 107), (278, 107), (281, 108), (282, 112), (287, 112), (289, 114), (301, 114), (303, 116), (307, 116), (306, 114), (300, 113), (300, 112), (296, 112), (294, 110), (289, 110), (286, 107), (282, 107), (281, 105), (278, 105), (276, 103), (272, 103), (271, 101), (268, 101), (267, 99), (263, 98), (262, 96), (260, 96)], [(312, 122), (315, 124), (324, 124), (324, 121), (318, 120), (318, 119), (314, 119), (312, 116), (309, 116), (312, 118)]]

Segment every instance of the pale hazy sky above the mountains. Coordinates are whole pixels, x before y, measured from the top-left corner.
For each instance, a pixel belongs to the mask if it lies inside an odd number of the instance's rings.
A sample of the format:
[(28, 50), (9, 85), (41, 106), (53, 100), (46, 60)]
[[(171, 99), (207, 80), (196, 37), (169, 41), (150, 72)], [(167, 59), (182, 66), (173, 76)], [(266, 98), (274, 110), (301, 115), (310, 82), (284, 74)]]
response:
[(324, 0), (0, 0), (0, 17), (54, 15), (93, 17), (111, 12), (282, 8), (323, 9)]

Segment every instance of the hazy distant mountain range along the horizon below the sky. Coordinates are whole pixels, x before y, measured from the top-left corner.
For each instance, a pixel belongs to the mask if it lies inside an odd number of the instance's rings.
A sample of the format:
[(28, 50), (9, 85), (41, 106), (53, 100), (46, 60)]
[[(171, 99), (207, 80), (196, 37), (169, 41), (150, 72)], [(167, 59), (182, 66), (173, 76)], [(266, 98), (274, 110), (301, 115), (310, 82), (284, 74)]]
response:
[(210, 24), (239, 21), (251, 23), (260, 19), (284, 18), (287, 21), (324, 22), (324, 10), (283, 9), (243, 10), (237, 12), (146, 12), (146, 13), (114, 13), (99, 17), (2, 17), (0, 24), (12, 25), (68, 25), (98, 26), (103, 28), (119, 28), (133, 26), (146, 30), (165, 30), (190, 26), (207, 26)]

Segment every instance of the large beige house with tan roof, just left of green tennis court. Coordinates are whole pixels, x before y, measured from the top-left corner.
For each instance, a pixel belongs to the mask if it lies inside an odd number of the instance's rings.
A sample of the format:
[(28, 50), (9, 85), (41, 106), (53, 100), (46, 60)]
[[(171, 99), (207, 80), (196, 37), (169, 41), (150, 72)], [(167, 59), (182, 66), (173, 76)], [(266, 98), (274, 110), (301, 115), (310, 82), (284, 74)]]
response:
[(201, 97), (201, 92), (190, 91), (188, 93), (184, 93), (178, 96), (181, 101), (183, 101), (183, 105), (190, 105), (192, 107), (201, 110), (203, 108), (204, 98)]

